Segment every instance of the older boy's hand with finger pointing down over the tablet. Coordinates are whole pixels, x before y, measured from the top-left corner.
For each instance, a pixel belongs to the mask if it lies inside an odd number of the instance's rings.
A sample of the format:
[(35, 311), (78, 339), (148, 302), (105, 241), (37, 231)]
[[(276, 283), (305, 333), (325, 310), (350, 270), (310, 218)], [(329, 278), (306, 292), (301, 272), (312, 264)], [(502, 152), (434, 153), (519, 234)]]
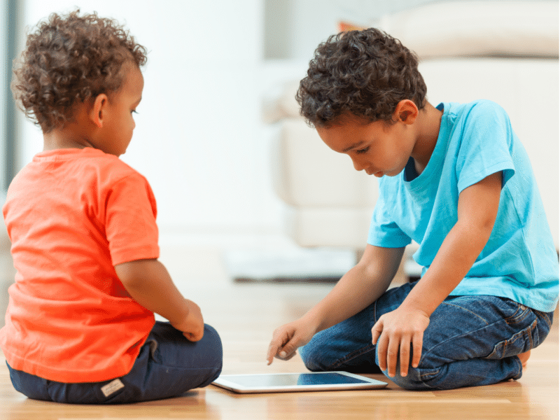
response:
[(304, 346), (314, 335), (314, 330), (301, 320), (287, 323), (274, 330), (268, 346), (267, 362), (270, 365), (274, 357), (290, 360), (295, 356), (297, 347)]

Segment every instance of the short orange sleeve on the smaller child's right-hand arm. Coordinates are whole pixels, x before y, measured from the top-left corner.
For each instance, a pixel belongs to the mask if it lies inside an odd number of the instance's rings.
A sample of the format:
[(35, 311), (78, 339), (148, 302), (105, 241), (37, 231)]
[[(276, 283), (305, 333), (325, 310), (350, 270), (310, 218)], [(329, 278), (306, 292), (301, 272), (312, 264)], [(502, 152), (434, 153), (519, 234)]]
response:
[(155, 197), (144, 176), (132, 174), (113, 184), (105, 214), (113, 265), (159, 257)]

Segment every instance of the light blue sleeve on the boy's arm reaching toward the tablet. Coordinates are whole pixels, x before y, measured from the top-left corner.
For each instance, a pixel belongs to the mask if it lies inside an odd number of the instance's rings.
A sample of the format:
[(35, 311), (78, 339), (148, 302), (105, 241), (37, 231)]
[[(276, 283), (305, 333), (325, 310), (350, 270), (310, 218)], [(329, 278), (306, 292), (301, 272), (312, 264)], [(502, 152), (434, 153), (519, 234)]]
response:
[(402, 248), (410, 244), (410, 242), (410, 237), (405, 232), (402, 232), (395, 221), (393, 221), (393, 218), (391, 218), (384, 197), (380, 195), (373, 211), (367, 243), (374, 246), (382, 246), (383, 248)]

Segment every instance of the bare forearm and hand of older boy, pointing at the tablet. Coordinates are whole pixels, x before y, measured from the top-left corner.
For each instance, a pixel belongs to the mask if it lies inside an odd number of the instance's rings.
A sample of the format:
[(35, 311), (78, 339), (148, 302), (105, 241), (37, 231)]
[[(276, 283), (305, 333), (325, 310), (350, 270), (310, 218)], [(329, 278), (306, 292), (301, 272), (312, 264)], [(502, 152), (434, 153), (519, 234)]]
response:
[(360, 262), (349, 270), (302, 318), (274, 331), (267, 352), (268, 364), (274, 357), (292, 358), (297, 347), (307, 344), (316, 332), (357, 314), (377, 300), (391, 284), (404, 248), (367, 245)]

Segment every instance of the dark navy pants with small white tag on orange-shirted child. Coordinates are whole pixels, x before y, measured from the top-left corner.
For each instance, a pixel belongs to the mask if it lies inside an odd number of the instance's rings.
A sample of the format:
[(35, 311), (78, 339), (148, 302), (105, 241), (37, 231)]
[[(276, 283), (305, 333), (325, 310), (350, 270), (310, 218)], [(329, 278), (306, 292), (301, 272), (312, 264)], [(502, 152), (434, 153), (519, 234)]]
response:
[(132, 370), (117, 379), (65, 384), (14, 370), (10, 365), (8, 369), (14, 388), (35, 400), (71, 404), (160, 400), (211, 384), (222, 370), (222, 343), (210, 325), (204, 325), (199, 342), (190, 342), (169, 323), (158, 321)]

